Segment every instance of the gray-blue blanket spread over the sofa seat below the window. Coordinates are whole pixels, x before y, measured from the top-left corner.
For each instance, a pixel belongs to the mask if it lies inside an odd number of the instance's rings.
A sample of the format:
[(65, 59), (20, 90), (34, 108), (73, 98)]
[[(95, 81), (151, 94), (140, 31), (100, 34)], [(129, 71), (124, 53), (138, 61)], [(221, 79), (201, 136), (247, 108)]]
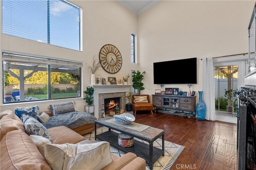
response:
[(76, 127), (94, 123), (94, 120), (97, 118), (93, 115), (81, 112), (81, 111), (73, 111), (64, 114), (56, 114), (50, 117), (49, 121), (46, 123), (42, 123), (46, 129), (56, 126), (66, 126), (70, 129), (74, 129)]

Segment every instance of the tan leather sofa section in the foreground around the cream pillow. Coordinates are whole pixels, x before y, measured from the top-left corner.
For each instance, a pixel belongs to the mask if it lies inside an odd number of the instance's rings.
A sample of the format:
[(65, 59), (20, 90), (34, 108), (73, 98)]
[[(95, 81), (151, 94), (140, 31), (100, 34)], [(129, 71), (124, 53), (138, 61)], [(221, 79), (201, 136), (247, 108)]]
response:
[[(5, 170), (12, 170), (12, 169), (19, 169), (19, 170), (50, 170), (53, 166), (50, 166), (45, 156), (40, 152), (39, 147), (34, 143), (31, 138), (26, 133), (24, 128), (24, 123), (21, 119), (13, 114), (13, 111), (6, 110), (0, 113), (0, 169)], [(47, 129), (52, 137), (52, 144), (45, 144), (44, 147), (50, 146), (55, 147), (54, 144), (63, 144), (67, 145), (81, 143), (80, 146), (86, 145), (93, 145), (91, 141), (84, 140), (84, 137), (75, 131), (69, 129), (65, 126), (60, 127), (53, 127)], [(91, 143), (91, 144), (90, 144)], [(105, 142), (106, 144), (106, 142)], [(54, 146), (52, 146), (54, 145)], [(106, 145), (107, 146), (107, 145)], [(107, 146), (108, 147), (108, 146)], [(98, 148), (96, 148), (97, 150)], [(77, 152), (77, 151), (76, 151)], [(110, 152), (110, 151), (109, 151)], [(131, 152), (123, 155), (122, 157), (117, 157), (111, 154), (111, 162), (104, 166), (103, 170), (145, 170), (146, 169), (146, 162), (144, 159), (137, 157), (136, 154)], [(56, 155), (53, 155), (53, 157)], [(60, 156), (61, 157), (61, 156)], [(58, 156), (57, 156), (58, 158)], [(87, 158), (90, 161), (97, 161), (98, 158)], [(77, 161), (77, 160), (76, 160)], [(85, 159), (80, 160), (79, 163), (86, 161)], [(101, 160), (101, 162), (104, 160)], [(87, 160), (88, 162), (88, 160)], [(60, 161), (58, 161), (60, 163)], [(57, 161), (56, 161), (57, 164)], [(88, 170), (90, 169), (90, 165), (81, 166), (82, 169)], [(72, 169), (67, 168), (64, 164), (64, 167), (60, 169)]]

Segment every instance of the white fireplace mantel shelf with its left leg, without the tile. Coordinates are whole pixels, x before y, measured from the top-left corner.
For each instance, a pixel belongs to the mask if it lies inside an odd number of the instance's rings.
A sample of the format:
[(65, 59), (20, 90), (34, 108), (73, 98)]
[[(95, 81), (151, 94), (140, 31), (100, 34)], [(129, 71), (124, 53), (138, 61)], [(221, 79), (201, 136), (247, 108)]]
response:
[(128, 85), (89, 85), (94, 88), (94, 116), (99, 118), (99, 113), (101, 113), (101, 106), (99, 106), (99, 94), (104, 93), (118, 93), (125, 92), (126, 94), (131, 91), (131, 84)]

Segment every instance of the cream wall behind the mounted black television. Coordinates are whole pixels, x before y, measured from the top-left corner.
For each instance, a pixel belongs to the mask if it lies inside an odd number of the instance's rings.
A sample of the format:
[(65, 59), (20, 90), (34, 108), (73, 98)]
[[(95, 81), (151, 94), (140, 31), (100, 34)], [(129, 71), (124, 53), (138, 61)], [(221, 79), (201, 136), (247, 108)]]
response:
[[(139, 70), (146, 71), (142, 94), (153, 94), (160, 85), (153, 82), (153, 63), (197, 57), (198, 83), (202, 90), (203, 57), (248, 52), (248, 25), (255, 1), (158, 1), (138, 16)], [(178, 76), (180, 68), (171, 78)], [(166, 77), (166, 75), (162, 75)], [(186, 84), (165, 84), (164, 88), (188, 91)], [(163, 88), (163, 90), (164, 90)], [(198, 101), (198, 98), (197, 98)]]

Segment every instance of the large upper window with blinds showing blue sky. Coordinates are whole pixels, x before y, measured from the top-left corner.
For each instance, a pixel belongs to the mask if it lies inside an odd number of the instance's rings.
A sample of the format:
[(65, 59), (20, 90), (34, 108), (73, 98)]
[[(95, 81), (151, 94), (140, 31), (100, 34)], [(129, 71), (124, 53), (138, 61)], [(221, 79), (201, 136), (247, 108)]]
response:
[(65, 0), (2, 0), (2, 33), (82, 51), (82, 10)]

